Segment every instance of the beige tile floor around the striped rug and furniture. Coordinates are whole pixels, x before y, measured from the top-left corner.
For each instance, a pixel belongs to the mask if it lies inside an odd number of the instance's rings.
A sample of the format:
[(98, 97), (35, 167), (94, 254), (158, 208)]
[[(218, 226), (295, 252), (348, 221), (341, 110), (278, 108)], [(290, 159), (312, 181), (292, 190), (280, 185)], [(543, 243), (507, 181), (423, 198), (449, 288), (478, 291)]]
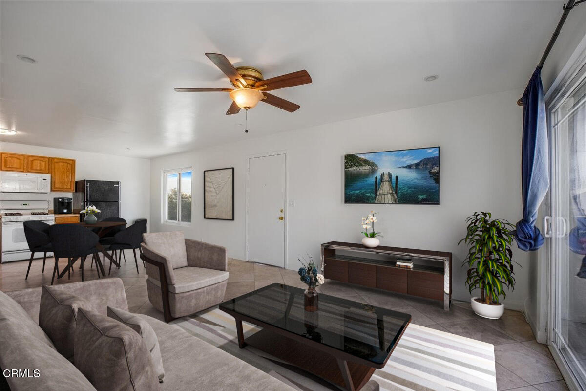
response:
[[(132, 251), (127, 250), (125, 255), (127, 261), (122, 261), (120, 269), (113, 267), (111, 277), (120, 277), (124, 281), (130, 311), (162, 319), (162, 314), (148, 301), (146, 274), (140, 259), (137, 273)], [(0, 290), (11, 291), (50, 284), (54, 260), (47, 259), (44, 274), (41, 273), (42, 263), (42, 259), (33, 261), (26, 281), (28, 261), (0, 264)], [(60, 261), (59, 268), (65, 264), (65, 261)], [(97, 278), (95, 267), (90, 270), (88, 265), (89, 263), (84, 268), (86, 279)], [(107, 266), (108, 264), (105, 265), (106, 268)], [(272, 283), (304, 287), (294, 270), (230, 259), (229, 272), (226, 300)], [(57, 280), (56, 284), (80, 280), (81, 273), (75, 268), (70, 280), (65, 277)], [(450, 311), (444, 311), (436, 302), (331, 280), (326, 280), (318, 290), (349, 300), (407, 312), (411, 314), (415, 324), (495, 345), (499, 390), (567, 390), (547, 347), (535, 341), (529, 324), (520, 312), (506, 310), (499, 320), (484, 319), (472, 312), (468, 302), (455, 301)]]

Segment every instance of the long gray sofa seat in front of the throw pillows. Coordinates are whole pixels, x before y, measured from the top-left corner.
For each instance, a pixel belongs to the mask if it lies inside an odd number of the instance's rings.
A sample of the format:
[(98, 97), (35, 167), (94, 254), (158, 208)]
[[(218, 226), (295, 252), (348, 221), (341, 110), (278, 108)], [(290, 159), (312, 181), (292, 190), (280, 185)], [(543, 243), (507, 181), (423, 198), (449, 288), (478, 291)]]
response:
[[(176, 325), (137, 314), (154, 329), (165, 366), (162, 390), (293, 391), (280, 380)], [(227, 342), (226, 343), (230, 343)]]

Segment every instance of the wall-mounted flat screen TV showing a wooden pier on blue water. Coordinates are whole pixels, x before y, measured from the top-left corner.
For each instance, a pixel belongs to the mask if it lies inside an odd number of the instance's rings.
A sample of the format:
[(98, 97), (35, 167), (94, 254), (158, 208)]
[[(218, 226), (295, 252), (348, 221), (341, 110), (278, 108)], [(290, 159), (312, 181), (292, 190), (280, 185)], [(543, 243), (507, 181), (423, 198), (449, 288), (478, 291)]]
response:
[(440, 147), (344, 156), (345, 203), (440, 204)]

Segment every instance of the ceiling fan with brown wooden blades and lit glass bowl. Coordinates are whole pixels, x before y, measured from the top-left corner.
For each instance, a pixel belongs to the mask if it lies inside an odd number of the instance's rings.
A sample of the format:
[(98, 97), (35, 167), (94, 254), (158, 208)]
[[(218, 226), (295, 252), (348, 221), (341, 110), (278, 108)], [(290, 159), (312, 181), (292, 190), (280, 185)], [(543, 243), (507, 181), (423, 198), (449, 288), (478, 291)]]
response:
[(226, 111), (226, 115), (237, 114), (241, 108), (244, 110), (253, 108), (259, 101), (272, 106), (282, 108), (293, 113), (299, 107), (298, 104), (274, 96), (266, 91), (284, 89), (286, 87), (300, 86), (311, 83), (311, 77), (306, 70), (283, 74), (271, 79), (263, 79), (260, 70), (251, 66), (234, 67), (224, 55), (206, 53), (207, 58), (228, 76), (230, 83), (236, 89), (175, 89), (177, 92), (229, 92), (233, 102)]

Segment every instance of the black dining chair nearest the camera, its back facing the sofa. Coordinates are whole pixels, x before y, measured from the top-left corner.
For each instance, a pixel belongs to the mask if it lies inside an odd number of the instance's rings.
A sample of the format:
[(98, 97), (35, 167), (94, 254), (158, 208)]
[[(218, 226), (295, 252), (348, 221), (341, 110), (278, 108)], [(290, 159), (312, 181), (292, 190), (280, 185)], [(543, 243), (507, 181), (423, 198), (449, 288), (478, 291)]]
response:
[[(86, 257), (90, 254), (92, 260), (95, 260), (97, 257), (96, 244), (98, 244), (98, 240), (100, 239), (97, 234), (76, 224), (56, 224), (49, 227), (49, 237), (55, 256), (51, 285), (53, 285), (55, 273), (59, 273), (57, 270), (59, 258), (67, 258), (68, 273), (71, 270), (73, 261), (81, 258), (81, 281), (83, 281), (83, 264), (86, 261)], [(96, 264), (98, 262), (100, 262), (99, 259), (96, 260)], [(96, 271), (98, 278), (100, 278), (100, 268), (96, 267)]]

